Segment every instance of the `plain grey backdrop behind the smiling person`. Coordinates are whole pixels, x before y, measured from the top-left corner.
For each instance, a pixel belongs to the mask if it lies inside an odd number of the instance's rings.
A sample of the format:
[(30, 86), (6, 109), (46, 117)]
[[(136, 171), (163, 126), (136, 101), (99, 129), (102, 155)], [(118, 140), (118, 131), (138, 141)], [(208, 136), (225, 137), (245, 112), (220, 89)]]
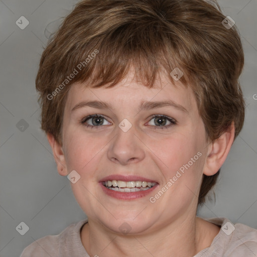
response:
[[(77, 1), (0, 1), (0, 256), (20, 256), (34, 240), (58, 234), (85, 218), (66, 177), (57, 173), (52, 151), (40, 129), (35, 90), (40, 54), (48, 39), (47, 25), (67, 15)], [(257, 228), (257, 1), (219, 1), (239, 28), (245, 52), (240, 77), (247, 103), (242, 132), (234, 142), (215, 187), (216, 203), (198, 209), (204, 218), (227, 217), (233, 223)], [(16, 21), (30, 24), (21, 30)], [(51, 23), (48, 31), (57, 28)], [(255, 97), (257, 99), (257, 95)], [(20, 131), (24, 119), (29, 125)], [(22, 123), (21, 123), (22, 122)], [(18, 126), (18, 127), (17, 127)], [(21, 129), (21, 127), (20, 127)], [(29, 226), (25, 235), (16, 227)]]

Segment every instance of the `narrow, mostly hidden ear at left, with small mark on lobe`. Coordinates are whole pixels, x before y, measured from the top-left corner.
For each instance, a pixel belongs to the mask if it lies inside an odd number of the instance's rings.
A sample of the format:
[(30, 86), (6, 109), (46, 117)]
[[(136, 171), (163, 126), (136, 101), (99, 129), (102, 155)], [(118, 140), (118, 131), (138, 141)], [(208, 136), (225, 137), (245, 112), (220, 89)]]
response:
[(62, 146), (54, 139), (52, 134), (47, 133), (47, 139), (53, 151), (58, 173), (67, 176), (68, 172)]

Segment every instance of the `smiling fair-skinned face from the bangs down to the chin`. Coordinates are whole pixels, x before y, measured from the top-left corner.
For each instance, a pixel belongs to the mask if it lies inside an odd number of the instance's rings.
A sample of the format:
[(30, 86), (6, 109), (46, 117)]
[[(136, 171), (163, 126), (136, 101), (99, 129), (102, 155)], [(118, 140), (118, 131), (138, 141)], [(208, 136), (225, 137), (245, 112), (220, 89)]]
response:
[(152, 89), (132, 76), (113, 88), (74, 84), (62, 146), (68, 173), (80, 175), (74, 196), (89, 219), (115, 232), (144, 233), (195, 217), (205, 135), (192, 89), (168, 78)]

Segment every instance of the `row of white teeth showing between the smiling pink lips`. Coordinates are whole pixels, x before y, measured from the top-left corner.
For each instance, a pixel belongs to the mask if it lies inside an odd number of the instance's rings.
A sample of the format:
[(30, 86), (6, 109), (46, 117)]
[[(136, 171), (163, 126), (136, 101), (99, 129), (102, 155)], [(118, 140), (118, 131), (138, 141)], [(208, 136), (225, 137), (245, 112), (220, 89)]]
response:
[(149, 190), (157, 183), (147, 181), (107, 180), (102, 182), (102, 184), (110, 190), (129, 193)]

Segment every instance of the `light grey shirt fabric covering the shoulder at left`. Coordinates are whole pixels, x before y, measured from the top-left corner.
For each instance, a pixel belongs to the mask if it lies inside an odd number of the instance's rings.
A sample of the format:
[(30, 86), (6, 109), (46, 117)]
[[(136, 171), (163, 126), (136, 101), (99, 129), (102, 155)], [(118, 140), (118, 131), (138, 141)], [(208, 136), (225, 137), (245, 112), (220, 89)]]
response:
[(20, 257), (62, 256), (69, 244), (80, 237), (79, 230), (86, 221), (72, 223), (58, 235), (47, 235), (34, 241), (23, 250)]

